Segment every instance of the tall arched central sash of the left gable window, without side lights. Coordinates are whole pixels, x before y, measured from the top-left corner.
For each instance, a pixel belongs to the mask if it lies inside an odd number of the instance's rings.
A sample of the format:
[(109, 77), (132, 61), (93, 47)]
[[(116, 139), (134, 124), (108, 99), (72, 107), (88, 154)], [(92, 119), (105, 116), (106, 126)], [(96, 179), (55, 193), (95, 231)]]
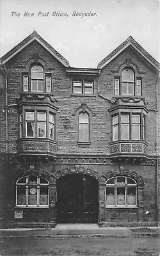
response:
[(44, 92), (44, 70), (38, 65), (31, 68), (31, 91)]

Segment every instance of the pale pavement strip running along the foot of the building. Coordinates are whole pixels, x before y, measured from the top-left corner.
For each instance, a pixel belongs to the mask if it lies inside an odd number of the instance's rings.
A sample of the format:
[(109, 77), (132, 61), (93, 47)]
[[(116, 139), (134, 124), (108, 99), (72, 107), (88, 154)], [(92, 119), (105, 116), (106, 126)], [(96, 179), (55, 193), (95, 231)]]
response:
[(97, 224), (58, 224), (55, 228), (0, 229), (1, 239), (67, 239), (72, 237), (160, 237), (160, 227), (99, 227)]

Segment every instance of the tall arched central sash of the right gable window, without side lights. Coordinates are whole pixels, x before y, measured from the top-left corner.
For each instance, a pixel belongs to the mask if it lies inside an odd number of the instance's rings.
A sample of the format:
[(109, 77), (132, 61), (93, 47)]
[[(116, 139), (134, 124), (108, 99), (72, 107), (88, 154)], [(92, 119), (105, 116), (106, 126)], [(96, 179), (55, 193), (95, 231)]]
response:
[(122, 72), (122, 94), (134, 95), (134, 73), (131, 69)]

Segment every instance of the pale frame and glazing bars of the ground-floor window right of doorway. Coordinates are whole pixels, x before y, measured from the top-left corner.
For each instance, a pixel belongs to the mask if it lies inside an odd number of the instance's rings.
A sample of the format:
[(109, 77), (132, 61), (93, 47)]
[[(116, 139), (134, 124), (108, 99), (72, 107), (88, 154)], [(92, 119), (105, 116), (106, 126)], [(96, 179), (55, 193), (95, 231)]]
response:
[[(117, 178), (120, 177), (121, 179), (124, 178), (124, 182), (118, 182)], [(114, 180), (114, 183), (107, 184), (109, 180)], [(134, 184), (129, 184), (128, 179), (134, 181)], [(108, 204), (108, 188), (113, 188), (114, 195), (113, 195), (113, 204)], [(118, 188), (124, 188), (124, 204), (118, 204)], [(135, 189), (135, 204), (128, 204), (128, 196), (129, 196), (129, 189)], [(122, 195), (123, 196), (123, 195)], [(127, 177), (124, 175), (117, 175), (115, 177), (111, 177), (106, 180), (106, 188), (105, 188), (105, 197), (106, 197), (106, 208), (135, 208), (138, 207), (138, 184), (136, 180), (132, 179), (131, 177)]]

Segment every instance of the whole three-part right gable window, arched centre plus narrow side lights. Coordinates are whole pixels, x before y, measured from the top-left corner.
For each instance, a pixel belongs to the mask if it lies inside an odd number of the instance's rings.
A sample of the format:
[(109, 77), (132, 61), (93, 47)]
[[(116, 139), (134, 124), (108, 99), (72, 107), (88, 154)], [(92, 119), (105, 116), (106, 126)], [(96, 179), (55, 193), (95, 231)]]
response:
[(131, 69), (124, 69), (121, 77), (115, 77), (115, 95), (141, 95), (141, 77)]

